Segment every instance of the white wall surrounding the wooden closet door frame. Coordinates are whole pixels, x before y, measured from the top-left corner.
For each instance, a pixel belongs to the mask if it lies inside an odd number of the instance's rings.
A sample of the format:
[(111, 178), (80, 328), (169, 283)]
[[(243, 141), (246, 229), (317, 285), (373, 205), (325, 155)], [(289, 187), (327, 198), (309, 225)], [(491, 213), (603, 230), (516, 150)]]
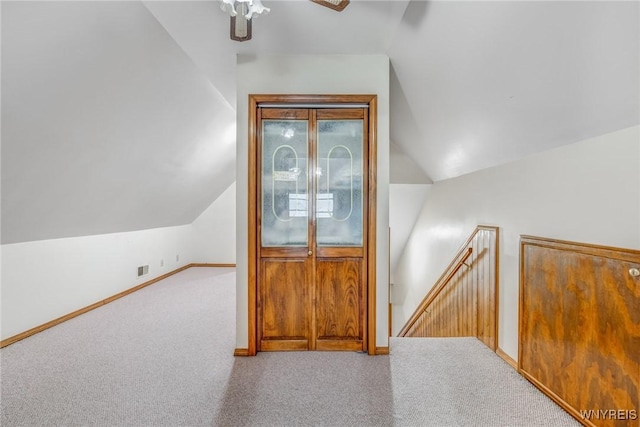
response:
[(237, 68), (237, 342), (248, 346), (247, 188), (249, 94), (378, 95), (377, 335), (388, 345), (389, 58), (384, 55), (239, 55)]

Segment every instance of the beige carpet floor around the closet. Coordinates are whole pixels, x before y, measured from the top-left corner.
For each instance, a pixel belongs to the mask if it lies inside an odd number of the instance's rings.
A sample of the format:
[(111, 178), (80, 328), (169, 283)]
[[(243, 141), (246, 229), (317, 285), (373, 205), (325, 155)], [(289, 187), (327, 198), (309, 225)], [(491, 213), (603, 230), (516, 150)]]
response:
[(474, 338), (234, 347), (234, 270), (191, 268), (0, 350), (1, 425), (578, 425)]

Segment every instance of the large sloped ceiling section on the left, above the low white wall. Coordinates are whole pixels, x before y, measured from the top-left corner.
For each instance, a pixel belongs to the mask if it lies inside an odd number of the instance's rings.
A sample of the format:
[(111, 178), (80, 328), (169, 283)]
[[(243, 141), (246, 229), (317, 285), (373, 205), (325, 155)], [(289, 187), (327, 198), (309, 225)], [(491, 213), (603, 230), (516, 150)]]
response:
[(2, 243), (191, 223), (235, 112), (139, 2), (2, 3)]

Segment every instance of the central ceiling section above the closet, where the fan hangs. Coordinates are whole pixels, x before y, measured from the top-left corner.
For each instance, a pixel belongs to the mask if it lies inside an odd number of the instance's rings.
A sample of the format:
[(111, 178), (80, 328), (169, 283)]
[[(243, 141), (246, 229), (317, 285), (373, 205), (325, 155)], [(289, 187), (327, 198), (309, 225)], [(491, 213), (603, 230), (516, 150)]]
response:
[(356, 0), (337, 13), (308, 0), (267, 0), (271, 12), (253, 20), (253, 39), (238, 43), (219, 1), (144, 2), (234, 108), (237, 54), (386, 53), (408, 3)]

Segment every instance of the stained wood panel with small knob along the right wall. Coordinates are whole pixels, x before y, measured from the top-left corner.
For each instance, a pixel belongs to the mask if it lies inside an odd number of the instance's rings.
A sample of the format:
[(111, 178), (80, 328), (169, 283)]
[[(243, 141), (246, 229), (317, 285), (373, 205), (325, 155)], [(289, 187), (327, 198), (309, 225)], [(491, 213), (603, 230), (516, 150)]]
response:
[(523, 236), (518, 369), (587, 426), (640, 426), (640, 251)]

